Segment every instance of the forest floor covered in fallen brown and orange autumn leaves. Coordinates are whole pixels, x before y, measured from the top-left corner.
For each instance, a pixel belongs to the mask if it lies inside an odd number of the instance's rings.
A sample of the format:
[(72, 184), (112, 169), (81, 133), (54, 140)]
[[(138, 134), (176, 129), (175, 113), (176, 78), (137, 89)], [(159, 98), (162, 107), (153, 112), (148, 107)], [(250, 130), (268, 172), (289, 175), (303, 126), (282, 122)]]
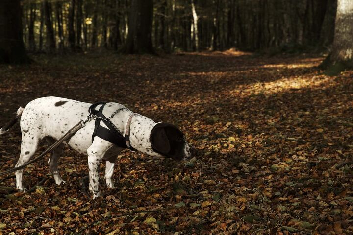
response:
[[(41, 96), (115, 101), (175, 123), (200, 154), (124, 151), (113, 190), (101, 164), (96, 202), (80, 184), (87, 158), (66, 149), (66, 185), (55, 185), (48, 158), (25, 169), (30, 193), (15, 190), (14, 174), (0, 177), (0, 234), (353, 233), (352, 71), (328, 77), (323, 57), (235, 51), (33, 58), (0, 66), (0, 123)], [(20, 145), (17, 124), (0, 137), (0, 171)]]

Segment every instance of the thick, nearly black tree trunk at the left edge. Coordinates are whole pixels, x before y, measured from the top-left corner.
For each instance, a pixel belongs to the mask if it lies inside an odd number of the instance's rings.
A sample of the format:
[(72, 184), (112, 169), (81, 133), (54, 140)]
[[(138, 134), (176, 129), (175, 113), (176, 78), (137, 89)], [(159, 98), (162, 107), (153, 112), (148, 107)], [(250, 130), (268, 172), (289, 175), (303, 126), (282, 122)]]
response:
[(0, 0), (0, 63), (28, 63), (20, 0)]

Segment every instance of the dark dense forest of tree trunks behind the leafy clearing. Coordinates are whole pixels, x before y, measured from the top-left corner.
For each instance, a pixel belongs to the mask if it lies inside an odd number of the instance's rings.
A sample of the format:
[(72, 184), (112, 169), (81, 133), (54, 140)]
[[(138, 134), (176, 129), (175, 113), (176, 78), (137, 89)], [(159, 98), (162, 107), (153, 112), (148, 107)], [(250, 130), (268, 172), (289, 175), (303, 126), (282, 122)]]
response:
[(132, 24), (142, 24), (138, 34), (151, 34), (154, 50), (277, 52), (331, 45), (337, 0), (23, 0), (21, 5), (24, 43), (32, 52), (126, 51), (128, 30), (138, 26)]

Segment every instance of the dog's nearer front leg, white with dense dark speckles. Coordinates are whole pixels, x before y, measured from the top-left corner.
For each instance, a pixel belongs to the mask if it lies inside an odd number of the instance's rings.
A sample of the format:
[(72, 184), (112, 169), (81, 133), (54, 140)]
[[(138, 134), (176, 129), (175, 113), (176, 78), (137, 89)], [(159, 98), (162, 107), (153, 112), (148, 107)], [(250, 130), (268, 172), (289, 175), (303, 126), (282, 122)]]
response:
[(100, 175), (100, 165), (102, 159), (102, 153), (99, 149), (91, 145), (87, 149), (88, 154), (88, 168), (89, 168), (89, 190), (92, 193), (93, 199), (96, 199), (101, 195), (99, 191), (99, 175)]

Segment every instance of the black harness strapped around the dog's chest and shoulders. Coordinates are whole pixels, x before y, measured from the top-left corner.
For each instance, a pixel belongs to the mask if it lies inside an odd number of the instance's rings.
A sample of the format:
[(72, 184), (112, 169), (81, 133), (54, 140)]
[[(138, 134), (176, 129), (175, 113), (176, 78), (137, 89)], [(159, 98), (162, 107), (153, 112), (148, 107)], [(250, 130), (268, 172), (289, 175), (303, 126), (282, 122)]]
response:
[[(115, 145), (117, 145), (118, 147), (121, 148), (129, 148), (131, 151), (136, 151), (136, 149), (134, 149), (131, 145), (130, 145), (130, 139), (129, 139), (129, 131), (126, 131), (125, 137), (123, 136), (123, 134), (117, 130), (117, 128), (110, 122), (108, 121), (109, 119), (107, 117), (105, 117), (105, 115), (103, 114), (103, 108), (104, 105), (106, 104), (106, 102), (97, 102), (92, 104), (89, 109), (88, 112), (91, 115), (96, 116), (96, 122), (95, 122), (95, 129), (93, 131), (92, 134), (92, 142), (94, 140), (94, 138), (96, 136), (100, 137), (101, 139), (111, 142)], [(101, 105), (101, 107), (99, 108), (99, 110), (96, 110), (95, 108)], [(127, 108), (123, 107), (121, 108), (121, 110), (128, 110)], [(129, 118), (129, 121), (127, 123), (128, 127), (126, 128), (126, 130), (130, 129), (130, 121), (131, 121), (131, 117)], [(105, 128), (103, 126), (100, 125), (100, 122), (103, 121), (103, 123), (109, 128)]]

